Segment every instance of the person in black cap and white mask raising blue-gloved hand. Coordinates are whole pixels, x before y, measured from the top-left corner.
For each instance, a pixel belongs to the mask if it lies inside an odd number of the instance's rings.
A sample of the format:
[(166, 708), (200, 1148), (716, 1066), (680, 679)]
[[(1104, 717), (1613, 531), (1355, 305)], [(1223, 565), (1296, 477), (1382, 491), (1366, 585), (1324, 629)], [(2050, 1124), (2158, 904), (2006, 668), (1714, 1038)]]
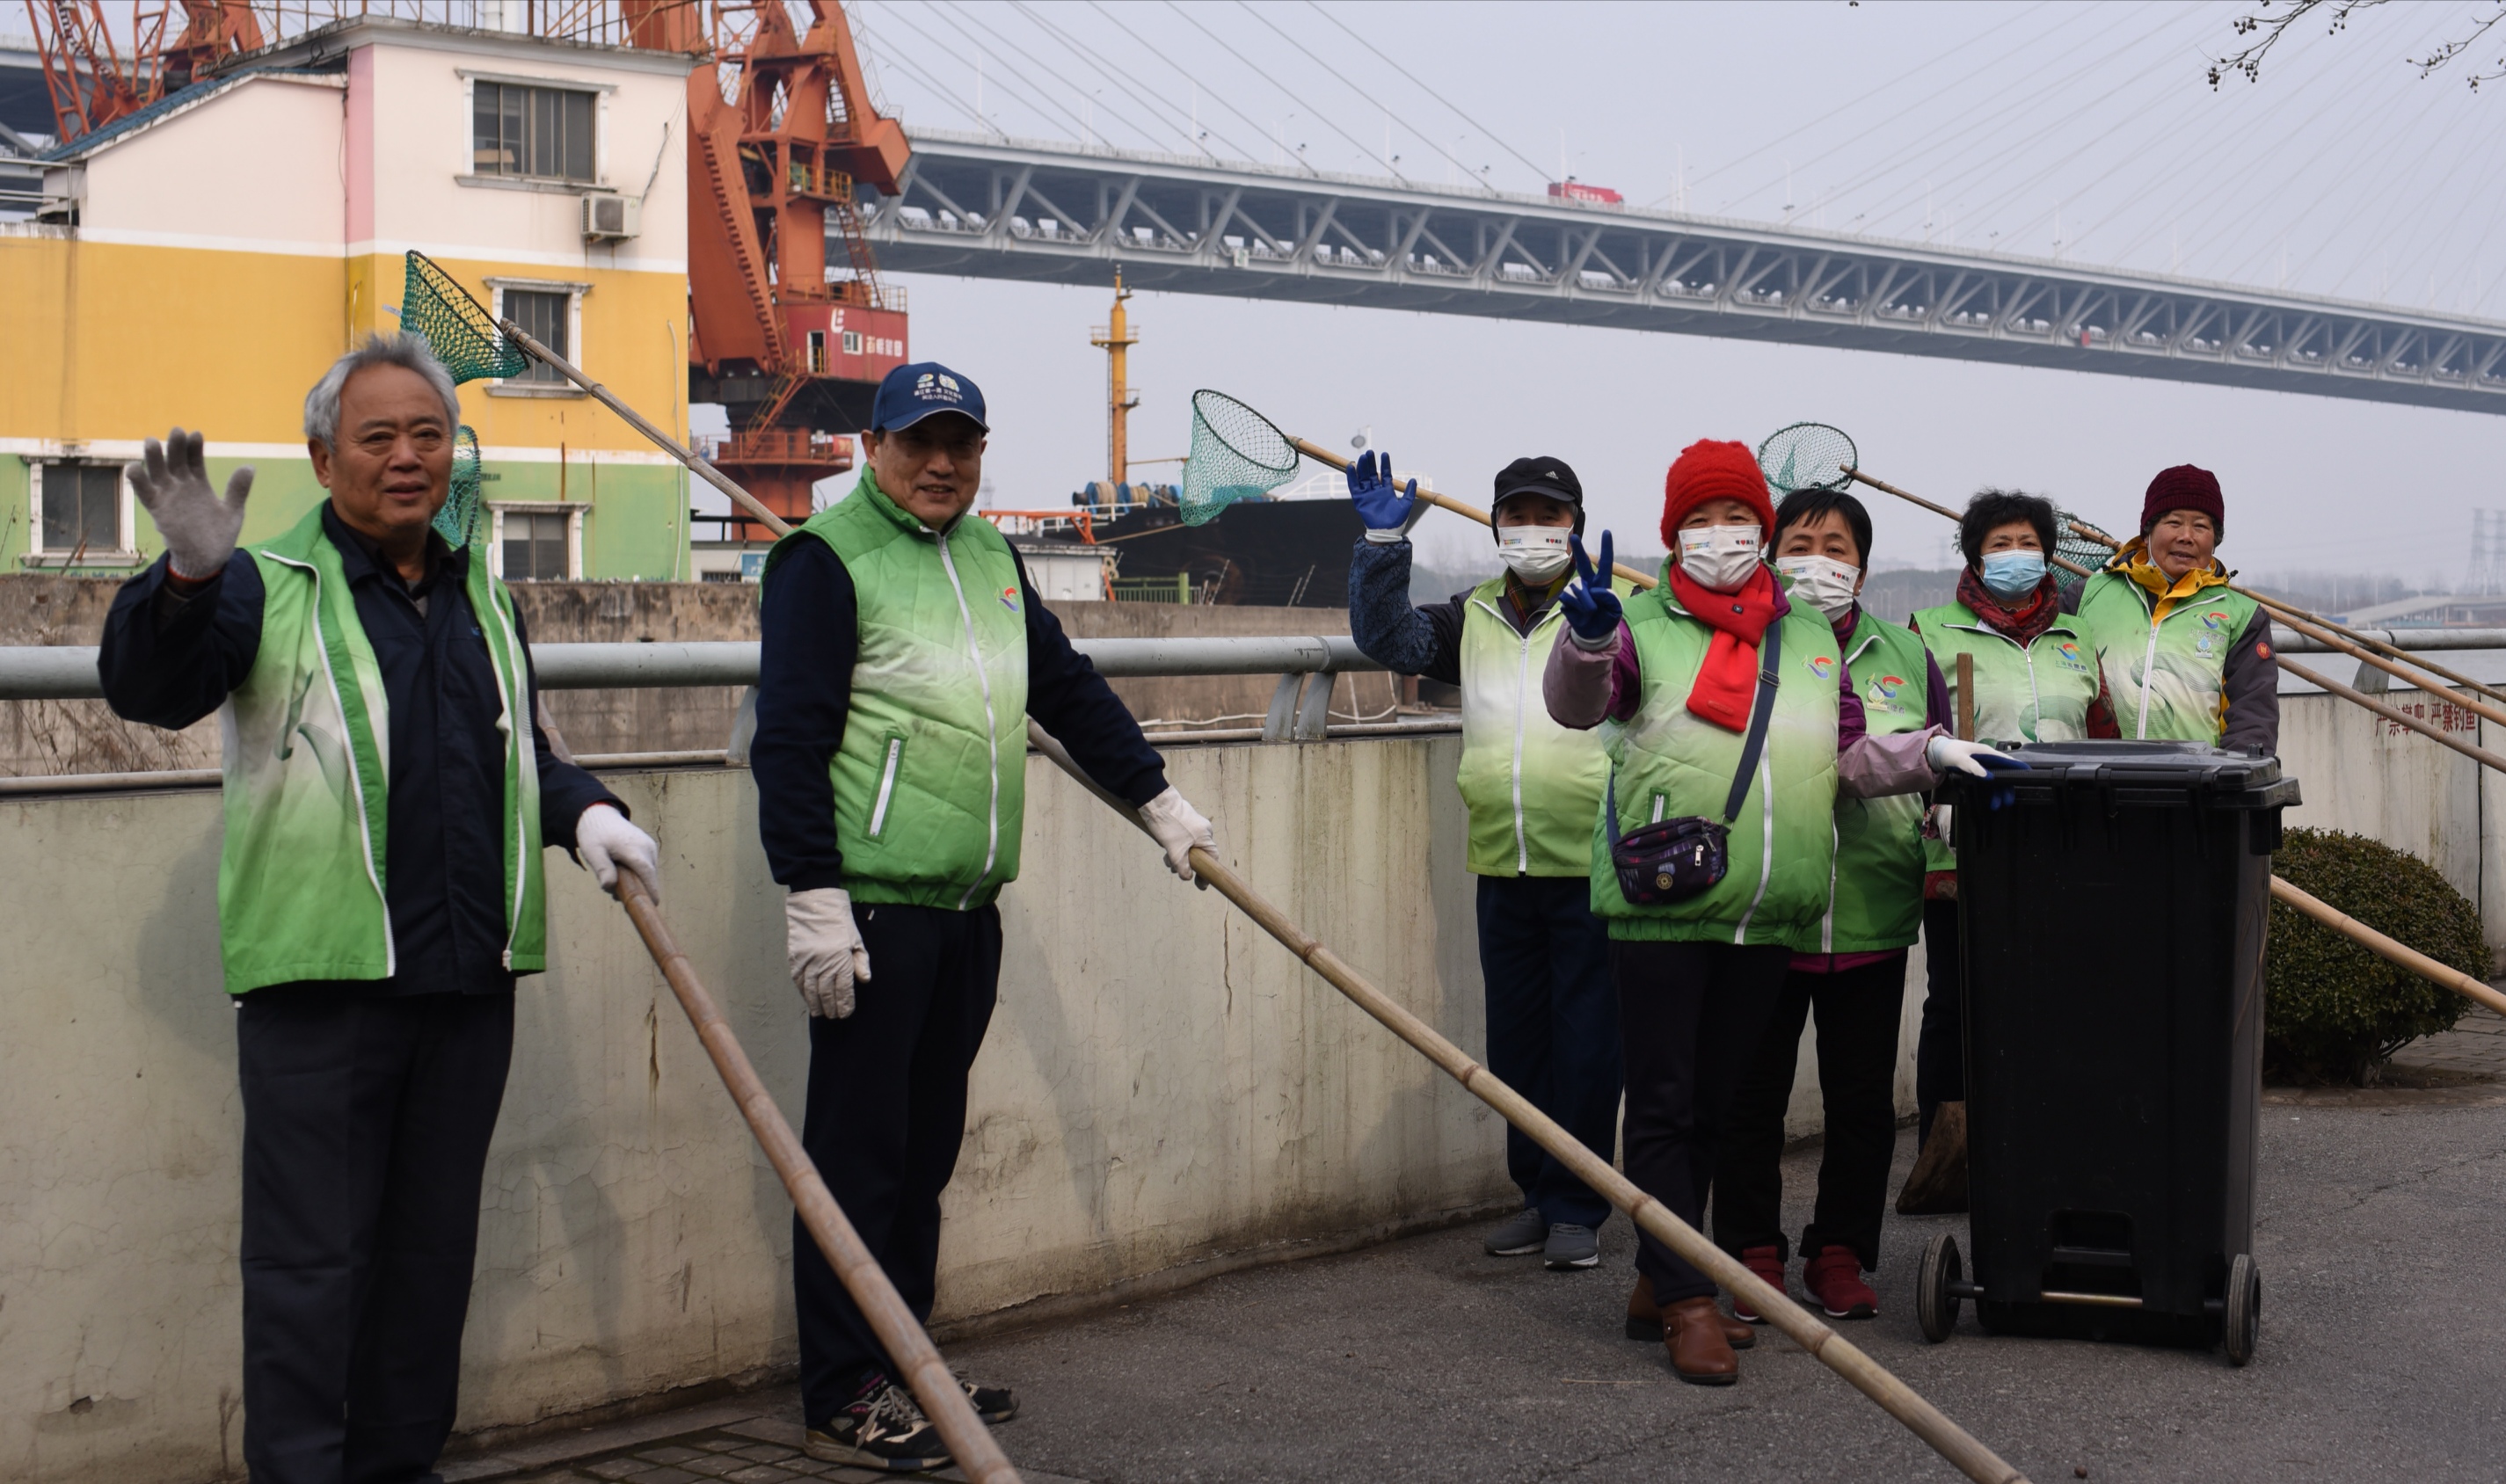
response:
[[(1398, 674), (1461, 687), (1461, 800), (1479, 875), (1479, 970), (1489, 995), (1489, 1070), (1609, 1158), (1619, 1141), (1619, 995), (1609, 930), (1591, 912), (1591, 830), (1609, 762), (1596, 732), (1549, 719), (1541, 672), (1564, 632), (1556, 597), (1566, 539), (1584, 529), (1584, 484), (1561, 459), (1516, 459), (1496, 476), (1496, 556), (1506, 572), (1411, 607), (1408, 529), (1418, 481), (1391, 459), (1348, 469), (1366, 521), (1348, 564), (1348, 632)], [(1506, 1173), (1524, 1208), (1489, 1233), (1491, 1256), (1541, 1253), (1551, 1268), (1601, 1261), (1609, 1201), (1516, 1128)]]

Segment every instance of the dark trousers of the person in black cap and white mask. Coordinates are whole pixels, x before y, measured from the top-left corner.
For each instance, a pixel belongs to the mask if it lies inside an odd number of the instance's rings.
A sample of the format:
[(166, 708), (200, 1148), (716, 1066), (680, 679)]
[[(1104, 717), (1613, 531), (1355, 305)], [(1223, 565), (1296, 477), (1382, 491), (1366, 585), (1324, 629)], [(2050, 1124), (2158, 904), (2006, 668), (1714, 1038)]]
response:
[[(1609, 925), (1584, 877), (1479, 877), (1479, 975), (1489, 1070), (1604, 1161), (1619, 1146), (1619, 985)], [(1594, 1226), (1609, 1201), (1506, 1126), (1506, 1176), (1549, 1226)]]

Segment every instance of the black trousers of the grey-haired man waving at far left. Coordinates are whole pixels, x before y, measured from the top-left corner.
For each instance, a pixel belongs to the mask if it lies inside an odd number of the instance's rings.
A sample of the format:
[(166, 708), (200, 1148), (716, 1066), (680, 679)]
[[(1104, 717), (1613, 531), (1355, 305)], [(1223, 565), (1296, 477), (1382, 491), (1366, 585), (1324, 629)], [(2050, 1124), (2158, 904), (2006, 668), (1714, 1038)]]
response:
[(514, 995), (278, 985), (236, 1005), (253, 1484), (431, 1476), (511, 1058)]

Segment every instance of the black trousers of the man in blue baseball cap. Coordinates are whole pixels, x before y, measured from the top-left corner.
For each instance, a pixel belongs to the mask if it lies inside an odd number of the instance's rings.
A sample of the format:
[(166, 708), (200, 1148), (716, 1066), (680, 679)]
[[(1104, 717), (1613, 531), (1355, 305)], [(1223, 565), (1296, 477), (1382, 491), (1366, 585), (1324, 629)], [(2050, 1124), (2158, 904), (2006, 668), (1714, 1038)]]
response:
[[(870, 980), (845, 1020), (809, 1018), (809, 1105), (799, 1141), (887, 1281), (930, 1321), (940, 1191), (965, 1143), (965, 1075), (1000, 993), (1000, 910), (880, 902), (852, 910)], [(792, 1218), (799, 1396), (809, 1426), (852, 1401), (887, 1351), (827, 1253)]]

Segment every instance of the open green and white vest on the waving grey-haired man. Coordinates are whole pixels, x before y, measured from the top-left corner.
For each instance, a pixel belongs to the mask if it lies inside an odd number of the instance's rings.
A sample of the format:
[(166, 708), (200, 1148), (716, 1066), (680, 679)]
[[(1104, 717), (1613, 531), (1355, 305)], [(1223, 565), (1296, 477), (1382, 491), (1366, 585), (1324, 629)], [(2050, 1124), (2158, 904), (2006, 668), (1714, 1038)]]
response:
[[(218, 945), (226, 990), (381, 980), (398, 968), (383, 897), (391, 714), (321, 506), (253, 549), (261, 652), (223, 707), (226, 847)], [(504, 704), (504, 968), (546, 963), (539, 757), (524, 697), (514, 597), (471, 546), (464, 584)]]

